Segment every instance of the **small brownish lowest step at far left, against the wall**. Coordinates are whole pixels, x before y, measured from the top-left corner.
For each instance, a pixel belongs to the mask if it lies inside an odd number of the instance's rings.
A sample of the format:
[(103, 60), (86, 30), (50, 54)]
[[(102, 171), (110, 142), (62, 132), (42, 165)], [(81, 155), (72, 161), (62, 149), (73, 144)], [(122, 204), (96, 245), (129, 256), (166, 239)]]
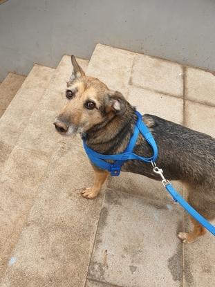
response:
[(5, 80), (0, 85), (0, 118), (7, 109), (11, 100), (23, 84), (26, 76), (15, 73), (8, 73)]

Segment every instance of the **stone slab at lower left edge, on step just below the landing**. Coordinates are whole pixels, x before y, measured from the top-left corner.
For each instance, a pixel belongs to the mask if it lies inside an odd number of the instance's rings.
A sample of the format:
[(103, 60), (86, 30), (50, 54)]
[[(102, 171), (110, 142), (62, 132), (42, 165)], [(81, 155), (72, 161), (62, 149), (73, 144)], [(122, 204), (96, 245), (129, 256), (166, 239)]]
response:
[(47, 158), (39, 153), (15, 147), (0, 178), (0, 274), (19, 238), (37, 186), (44, 175)]

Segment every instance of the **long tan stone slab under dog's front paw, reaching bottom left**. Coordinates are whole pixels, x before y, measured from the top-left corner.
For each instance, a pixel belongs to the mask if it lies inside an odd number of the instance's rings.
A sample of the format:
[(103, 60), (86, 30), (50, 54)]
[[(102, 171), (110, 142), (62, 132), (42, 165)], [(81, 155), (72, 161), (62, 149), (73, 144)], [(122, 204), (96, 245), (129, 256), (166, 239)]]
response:
[(2, 287), (84, 286), (103, 198), (82, 198), (81, 189), (91, 184), (93, 172), (88, 171), (88, 159), (75, 140), (59, 148)]

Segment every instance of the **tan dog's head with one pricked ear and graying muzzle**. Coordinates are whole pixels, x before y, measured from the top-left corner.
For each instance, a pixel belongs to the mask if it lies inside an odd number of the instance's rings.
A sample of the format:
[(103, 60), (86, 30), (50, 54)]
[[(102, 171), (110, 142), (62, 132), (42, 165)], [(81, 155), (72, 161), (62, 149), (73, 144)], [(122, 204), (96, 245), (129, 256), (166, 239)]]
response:
[(68, 104), (54, 122), (57, 131), (66, 135), (86, 133), (116, 115), (123, 115), (127, 109), (123, 95), (111, 91), (100, 80), (86, 76), (74, 56), (71, 61), (73, 73), (65, 94)]

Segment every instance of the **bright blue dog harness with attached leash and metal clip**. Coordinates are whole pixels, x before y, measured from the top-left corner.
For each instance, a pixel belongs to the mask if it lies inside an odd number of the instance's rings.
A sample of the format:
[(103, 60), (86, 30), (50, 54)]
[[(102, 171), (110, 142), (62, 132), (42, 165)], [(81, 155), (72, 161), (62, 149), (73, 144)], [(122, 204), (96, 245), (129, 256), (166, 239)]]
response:
[[(129, 141), (129, 145), (127, 146), (127, 149), (121, 154), (111, 154), (111, 155), (104, 155), (99, 154), (93, 149), (89, 148), (86, 145), (86, 141), (83, 140), (84, 149), (86, 151), (86, 154), (88, 155), (88, 158), (91, 160), (93, 165), (99, 167), (100, 169), (105, 169), (111, 173), (111, 176), (119, 176), (121, 167), (125, 160), (143, 160), (145, 163), (151, 163), (153, 165), (153, 171), (156, 174), (160, 174), (162, 178), (162, 184), (167, 189), (169, 194), (173, 197), (174, 201), (180, 203), (187, 212), (191, 216), (196, 219), (201, 225), (203, 225), (209, 232), (211, 232), (213, 235), (215, 235), (215, 227), (209, 223), (203, 216), (201, 216), (196, 210), (194, 210), (191, 205), (185, 201), (185, 199), (180, 196), (174, 189), (174, 187), (169, 183), (169, 180), (166, 180), (165, 177), (162, 175), (162, 169), (159, 169), (156, 167), (156, 159), (158, 158), (158, 147), (156, 145), (155, 140), (153, 139), (152, 134), (150, 133), (149, 129), (147, 128), (146, 124), (142, 121), (142, 115), (135, 111), (136, 115), (138, 116), (138, 120), (135, 124), (135, 128), (133, 131), (133, 136), (131, 136), (131, 139)], [(142, 133), (142, 136), (147, 140), (149, 145), (151, 146), (151, 149), (153, 150), (153, 156), (150, 156), (149, 158), (144, 158), (143, 156), (138, 156), (137, 154), (133, 154), (133, 148), (135, 147), (135, 142), (138, 139), (139, 133)], [(107, 163), (106, 160), (114, 160), (114, 163)]]

